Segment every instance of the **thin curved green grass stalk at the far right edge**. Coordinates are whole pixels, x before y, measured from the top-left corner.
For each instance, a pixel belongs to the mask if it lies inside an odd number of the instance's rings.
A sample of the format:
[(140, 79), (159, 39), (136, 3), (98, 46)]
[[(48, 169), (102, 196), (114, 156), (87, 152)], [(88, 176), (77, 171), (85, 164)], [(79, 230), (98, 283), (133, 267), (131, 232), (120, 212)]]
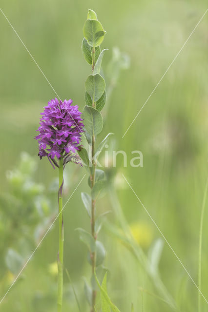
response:
[[(203, 220), (204, 220), (204, 214), (205, 214), (205, 203), (206, 203), (206, 198), (207, 198), (207, 191), (208, 191), (208, 179), (207, 179), (205, 193), (203, 197), (200, 229), (199, 229), (198, 288), (200, 291), (201, 291), (201, 277), (202, 277), (202, 230), (203, 230)], [(198, 312), (201, 312), (201, 293), (200, 292), (198, 292)]]

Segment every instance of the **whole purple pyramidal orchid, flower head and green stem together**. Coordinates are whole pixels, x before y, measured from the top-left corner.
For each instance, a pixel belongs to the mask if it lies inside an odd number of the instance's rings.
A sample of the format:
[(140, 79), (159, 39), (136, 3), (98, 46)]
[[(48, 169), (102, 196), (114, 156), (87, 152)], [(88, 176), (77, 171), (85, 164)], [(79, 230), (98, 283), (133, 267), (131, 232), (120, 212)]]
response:
[(81, 149), (83, 132), (81, 112), (72, 102), (71, 99), (63, 102), (57, 98), (50, 100), (41, 113), (37, 130), (40, 134), (35, 137), (39, 142), (40, 158), (47, 156), (52, 166), (59, 168), (58, 312), (62, 311), (63, 293), (63, 169), (69, 161), (80, 163), (77, 151)]

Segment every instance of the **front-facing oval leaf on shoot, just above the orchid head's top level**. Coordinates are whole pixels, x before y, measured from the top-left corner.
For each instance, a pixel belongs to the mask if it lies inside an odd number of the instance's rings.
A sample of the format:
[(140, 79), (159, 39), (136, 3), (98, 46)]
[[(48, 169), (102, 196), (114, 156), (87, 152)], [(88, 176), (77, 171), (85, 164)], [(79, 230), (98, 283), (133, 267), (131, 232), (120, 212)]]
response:
[(92, 102), (102, 97), (105, 90), (104, 78), (99, 75), (89, 75), (85, 81), (86, 92), (90, 95)]

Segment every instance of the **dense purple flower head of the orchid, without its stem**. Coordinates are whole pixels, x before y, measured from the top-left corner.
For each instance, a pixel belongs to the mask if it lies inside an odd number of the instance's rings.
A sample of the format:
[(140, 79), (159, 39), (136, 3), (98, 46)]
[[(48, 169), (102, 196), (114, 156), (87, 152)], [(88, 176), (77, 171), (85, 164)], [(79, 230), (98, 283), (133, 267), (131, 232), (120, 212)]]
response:
[[(48, 102), (41, 113), (40, 132), (35, 137), (39, 142), (39, 156), (47, 156), (49, 161), (58, 166), (55, 156), (63, 158), (63, 163), (68, 161), (79, 162), (76, 152), (80, 150), (83, 119), (78, 106), (73, 106), (72, 100), (63, 102), (57, 98)], [(51, 162), (51, 164), (52, 164)]]

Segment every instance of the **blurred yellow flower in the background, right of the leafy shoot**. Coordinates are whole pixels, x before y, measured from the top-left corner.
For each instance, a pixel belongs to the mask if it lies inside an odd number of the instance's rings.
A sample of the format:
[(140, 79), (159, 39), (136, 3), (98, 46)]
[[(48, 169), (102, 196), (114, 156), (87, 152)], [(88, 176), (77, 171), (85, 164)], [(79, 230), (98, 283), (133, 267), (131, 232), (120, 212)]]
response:
[(147, 248), (153, 240), (153, 231), (146, 222), (134, 222), (130, 224), (130, 230), (135, 241), (142, 247)]

